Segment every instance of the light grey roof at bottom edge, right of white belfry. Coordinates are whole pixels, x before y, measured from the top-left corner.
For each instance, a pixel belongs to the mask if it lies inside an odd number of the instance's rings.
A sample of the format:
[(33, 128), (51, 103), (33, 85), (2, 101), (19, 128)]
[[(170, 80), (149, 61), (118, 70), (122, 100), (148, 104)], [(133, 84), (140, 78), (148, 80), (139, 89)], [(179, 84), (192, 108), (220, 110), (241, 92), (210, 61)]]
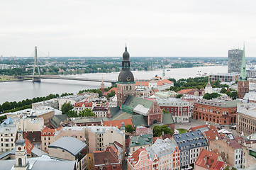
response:
[(75, 161), (36, 161), (31, 170), (57, 170), (57, 169), (67, 169), (74, 170)]

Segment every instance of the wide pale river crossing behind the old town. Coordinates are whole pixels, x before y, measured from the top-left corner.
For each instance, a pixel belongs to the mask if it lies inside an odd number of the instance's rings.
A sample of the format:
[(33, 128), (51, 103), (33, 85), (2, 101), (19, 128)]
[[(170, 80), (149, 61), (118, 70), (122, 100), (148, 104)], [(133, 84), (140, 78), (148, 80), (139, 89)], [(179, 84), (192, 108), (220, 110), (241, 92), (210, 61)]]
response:
[[(228, 66), (211, 66), (211, 67), (193, 67), (193, 68), (179, 68), (165, 69), (165, 77), (172, 77), (174, 79), (187, 79), (189, 77), (196, 77), (198, 71), (211, 73), (227, 72)], [(79, 74), (74, 77), (87, 77), (91, 79), (117, 79), (119, 72), (112, 73), (89, 73)], [(162, 70), (154, 70), (149, 72), (133, 71), (135, 79), (152, 79), (155, 75), (162, 77)], [(42, 79), (40, 83), (33, 81), (11, 81), (0, 83), (0, 103), (5, 101), (22, 101), (26, 98), (34, 98), (40, 96), (47, 96), (48, 94), (62, 94), (62, 93), (77, 93), (84, 89), (99, 89), (100, 82), (90, 81), (74, 81), (74, 80), (57, 80), (57, 79)], [(111, 86), (110, 83), (105, 83), (105, 87)]]

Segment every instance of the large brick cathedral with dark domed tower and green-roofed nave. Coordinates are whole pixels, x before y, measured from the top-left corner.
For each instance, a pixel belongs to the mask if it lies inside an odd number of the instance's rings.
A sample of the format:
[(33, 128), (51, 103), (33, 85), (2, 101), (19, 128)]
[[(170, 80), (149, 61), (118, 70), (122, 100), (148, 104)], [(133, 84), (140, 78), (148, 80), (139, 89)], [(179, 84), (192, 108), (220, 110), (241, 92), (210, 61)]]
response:
[[(123, 52), (122, 70), (118, 75), (117, 80), (117, 111), (126, 112), (131, 115), (138, 115), (146, 120), (146, 125), (153, 125), (155, 123), (163, 123), (162, 110), (157, 104), (157, 101), (150, 101), (145, 98), (138, 98), (135, 96), (135, 80), (133, 73), (130, 72), (130, 55), (125, 48)], [(115, 114), (115, 113), (113, 113)], [(111, 113), (111, 115), (113, 115)], [(135, 121), (135, 120), (133, 120)]]

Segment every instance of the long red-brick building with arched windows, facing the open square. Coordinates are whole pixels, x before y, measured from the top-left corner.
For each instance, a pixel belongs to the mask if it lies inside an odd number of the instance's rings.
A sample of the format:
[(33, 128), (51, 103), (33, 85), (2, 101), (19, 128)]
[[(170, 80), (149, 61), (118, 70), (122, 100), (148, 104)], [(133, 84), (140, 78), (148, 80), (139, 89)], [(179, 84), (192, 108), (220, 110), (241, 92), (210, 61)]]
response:
[(198, 100), (194, 103), (193, 118), (221, 125), (236, 123), (237, 104), (239, 102)]

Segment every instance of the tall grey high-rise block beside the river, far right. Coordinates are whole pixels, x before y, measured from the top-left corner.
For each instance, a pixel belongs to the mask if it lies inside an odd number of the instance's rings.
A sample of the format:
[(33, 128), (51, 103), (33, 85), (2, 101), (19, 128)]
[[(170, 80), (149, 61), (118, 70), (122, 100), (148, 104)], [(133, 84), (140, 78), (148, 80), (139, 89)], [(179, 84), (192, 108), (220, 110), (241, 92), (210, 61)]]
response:
[(228, 73), (241, 71), (243, 59), (243, 50), (232, 49), (228, 50)]

